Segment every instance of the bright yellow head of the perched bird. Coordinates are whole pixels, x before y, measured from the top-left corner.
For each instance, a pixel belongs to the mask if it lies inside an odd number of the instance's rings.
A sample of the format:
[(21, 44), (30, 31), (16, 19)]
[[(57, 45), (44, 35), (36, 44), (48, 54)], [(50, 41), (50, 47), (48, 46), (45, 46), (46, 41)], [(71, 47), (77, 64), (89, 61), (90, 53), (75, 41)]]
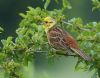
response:
[(45, 31), (47, 32), (50, 28), (52, 28), (53, 26), (56, 25), (56, 20), (53, 19), (52, 17), (48, 16), (46, 18), (44, 18), (44, 26), (43, 28), (45, 29)]

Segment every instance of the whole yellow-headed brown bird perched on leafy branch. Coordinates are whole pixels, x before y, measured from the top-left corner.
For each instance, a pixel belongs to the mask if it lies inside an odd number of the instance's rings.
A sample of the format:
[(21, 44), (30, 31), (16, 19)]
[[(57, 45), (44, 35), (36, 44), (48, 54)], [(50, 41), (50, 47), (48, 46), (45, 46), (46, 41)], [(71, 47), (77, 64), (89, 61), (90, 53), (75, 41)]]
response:
[(54, 18), (47, 16), (43, 22), (48, 42), (53, 48), (66, 51), (68, 55), (74, 52), (86, 61), (91, 60), (91, 57), (79, 48), (76, 39), (69, 32), (61, 29)]

